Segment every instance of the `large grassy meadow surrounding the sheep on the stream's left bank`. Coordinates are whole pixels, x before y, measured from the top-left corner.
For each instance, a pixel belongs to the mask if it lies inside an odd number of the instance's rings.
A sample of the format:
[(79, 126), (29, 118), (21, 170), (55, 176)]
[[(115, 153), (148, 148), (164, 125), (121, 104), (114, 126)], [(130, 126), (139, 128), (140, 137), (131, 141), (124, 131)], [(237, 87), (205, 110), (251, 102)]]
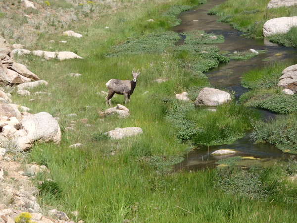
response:
[[(49, 0), (48, 6), (36, 2), (56, 10), (70, 10), (74, 5), (66, 0)], [(37, 29), (37, 38), (26, 49), (72, 51), (84, 59), (15, 55), (15, 61), (49, 85), (26, 97), (7, 88), (12, 101), (32, 113), (47, 111), (58, 117), (62, 131), (60, 145), (35, 145), (25, 161), (50, 170), (34, 179), (44, 211), (55, 208), (85, 223), (292, 223), (297, 218), (297, 186), (289, 178), (297, 173), (293, 161), (245, 170), (172, 171), (193, 148), (233, 142), (259, 121), (257, 112), (240, 103), (218, 106), (217, 112), (194, 107), (199, 91), (210, 86), (204, 72), (229, 61), (218, 54), (208, 35), (194, 41), (203, 31), (187, 32), (185, 45), (174, 45), (180, 37), (168, 30), (179, 22), (175, 15), (199, 3), (205, 1), (94, 1), (98, 14), (92, 12), (92, 3), (78, 4), (80, 12), (88, 14), (77, 15), (63, 29), (82, 38), (61, 35), (62, 22), (56, 21), (53, 33)], [(253, 10), (252, 1), (249, 4), (245, 10)], [(223, 36), (217, 41), (222, 42)], [(140, 76), (126, 105), (130, 116), (101, 117), (99, 111), (106, 110), (101, 94), (107, 91), (105, 83), (111, 78), (132, 79), (134, 68), (140, 69)], [(74, 78), (70, 73), (82, 76)], [(34, 95), (39, 91), (50, 95)], [(175, 99), (183, 91), (189, 93), (190, 101)], [(124, 96), (114, 95), (111, 102), (124, 105)], [(67, 116), (71, 113), (77, 116)], [(83, 118), (88, 119), (87, 125)], [(132, 126), (144, 133), (121, 140), (104, 135), (116, 127)], [(83, 145), (69, 148), (75, 143)], [(39, 181), (44, 182), (39, 185)], [(73, 211), (79, 215), (71, 215)]]

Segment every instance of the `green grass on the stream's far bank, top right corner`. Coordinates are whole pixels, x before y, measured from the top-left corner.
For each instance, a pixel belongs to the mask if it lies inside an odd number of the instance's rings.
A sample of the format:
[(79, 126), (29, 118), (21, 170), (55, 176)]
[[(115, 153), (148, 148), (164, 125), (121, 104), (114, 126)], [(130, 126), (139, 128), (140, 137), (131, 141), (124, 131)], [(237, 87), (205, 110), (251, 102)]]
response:
[(208, 10), (208, 14), (220, 16), (218, 22), (225, 22), (234, 28), (247, 32), (251, 38), (263, 38), (263, 25), (272, 18), (297, 15), (297, 8), (279, 7), (266, 9), (269, 0), (227, 0)]

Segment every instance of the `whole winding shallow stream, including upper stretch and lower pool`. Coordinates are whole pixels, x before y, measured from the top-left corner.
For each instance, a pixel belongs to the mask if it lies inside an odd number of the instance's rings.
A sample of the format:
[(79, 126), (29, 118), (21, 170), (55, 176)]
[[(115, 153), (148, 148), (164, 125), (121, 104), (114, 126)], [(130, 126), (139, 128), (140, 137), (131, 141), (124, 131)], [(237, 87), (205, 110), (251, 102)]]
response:
[[(173, 27), (173, 31), (182, 33), (192, 30), (204, 30), (206, 33), (214, 33), (215, 35), (223, 35), (224, 43), (214, 44), (219, 47), (220, 51), (247, 51), (254, 49), (256, 51), (265, 50), (265, 53), (249, 58), (247, 60), (230, 60), (227, 64), (220, 64), (218, 67), (211, 69), (205, 75), (212, 87), (227, 88), (229, 91), (235, 92), (235, 97), (238, 98), (248, 89), (241, 86), (241, 75), (251, 69), (260, 68), (261, 66), (271, 63), (276, 60), (287, 60), (294, 58), (297, 54), (297, 49), (282, 47), (271, 43), (266, 39), (247, 39), (241, 36), (243, 33), (233, 29), (229, 24), (216, 22), (219, 17), (216, 15), (208, 15), (208, 9), (215, 5), (223, 3), (225, 0), (208, 0), (207, 3), (201, 4), (189, 11), (182, 12), (178, 17), (182, 19), (181, 24)], [(183, 44), (184, 39), (181, 39), (177, 44)], [(263, 59), (265, 59), (263, 61)], [(269, 59), (269, 60), (266, 60)], [(262, 118), (269, 120), (275, 119), (278, 115), (269, 111), (260, 111)], [(261, 160), (241, 160), (239, 165), (269, 165), (274, 163), (274, 160), (288, 160), (292, 155), (284, 153), (271, 144), (254, 144), (250, 141), (250, 133), (236, 140), (231, 144), (221, 146), (202, 146), (199, 149), (188, 153), (184, 161), (176, 165), (175, 169), (201, 169), (206, 167), (216, 167), (218, 160), (230, 157), (245, 156), (260, 158)], [(234, 155), (210, 155), (212, 152), (219, 149), (233, 149), (239, 151)]]

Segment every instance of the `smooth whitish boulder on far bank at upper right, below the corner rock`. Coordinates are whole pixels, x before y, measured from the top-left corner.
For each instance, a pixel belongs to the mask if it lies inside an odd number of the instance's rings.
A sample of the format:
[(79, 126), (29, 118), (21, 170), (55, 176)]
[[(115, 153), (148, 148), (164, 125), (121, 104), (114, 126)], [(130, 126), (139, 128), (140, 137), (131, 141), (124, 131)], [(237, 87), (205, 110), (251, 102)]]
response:
[(296, 26), (297, 16), (270, 19), (263, 25), (263, 35), (267, 37), (275, 34), (284, 34)]

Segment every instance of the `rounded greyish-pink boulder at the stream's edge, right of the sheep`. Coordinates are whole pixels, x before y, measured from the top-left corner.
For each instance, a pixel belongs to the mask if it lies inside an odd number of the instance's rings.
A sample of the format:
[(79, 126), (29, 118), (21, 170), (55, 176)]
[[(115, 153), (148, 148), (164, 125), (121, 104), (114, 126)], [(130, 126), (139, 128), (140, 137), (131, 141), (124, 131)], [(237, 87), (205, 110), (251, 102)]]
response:
[(218, 106), (231, 101), (231, 95), (228, 92), (215, 88), (203, 88), (196, 101), (196, 106)]

